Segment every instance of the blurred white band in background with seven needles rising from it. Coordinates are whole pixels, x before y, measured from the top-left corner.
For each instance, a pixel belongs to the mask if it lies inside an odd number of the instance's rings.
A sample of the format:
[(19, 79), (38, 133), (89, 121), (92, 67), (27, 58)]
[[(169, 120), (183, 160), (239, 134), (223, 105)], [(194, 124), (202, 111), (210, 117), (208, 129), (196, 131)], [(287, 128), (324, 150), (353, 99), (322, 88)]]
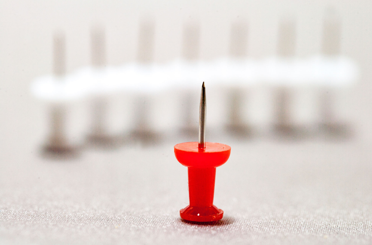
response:
[(54, 40), (54, 74), (36, 78), (32, 94), (40, 99), (58, 101), (81, 99), (91, 95), (118, 91), (154, 93), (170, 87), (192, 88), (200, 81), (222, 86), (323, 86), (352, 85), (358, 77), (358, 66), (340, 55), (340, 24), (337, 19), (324, 22), (322, 49), (319, 54), (296, 57), (296, 31), (293, 21), (279, 25), (277, 55), (261, 59), (247, 57), (248, 26), (234, 23), (231, 27), (230, 56), (213, 61), (198, 60), (200, 29), (186, 26), (183, 58), (157, 64), (154, 56), (154, 23), (140, 26), (137, 62), (120, 66), (107, 65), (103, 28), (91, 33), (92, 66), (65, 74), (65, 40), (63, 34)]

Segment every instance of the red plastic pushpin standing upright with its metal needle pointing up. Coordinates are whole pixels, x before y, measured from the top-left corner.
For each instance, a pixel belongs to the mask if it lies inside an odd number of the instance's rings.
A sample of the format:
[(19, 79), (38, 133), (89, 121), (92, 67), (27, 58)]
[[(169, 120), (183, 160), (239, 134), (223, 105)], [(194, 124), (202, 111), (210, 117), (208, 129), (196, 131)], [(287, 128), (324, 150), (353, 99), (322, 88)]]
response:
[(199, 142), (175, 146), (177, 160), (188, 168), (188, 195), (190, 204), (180, 210), (181, 218), (196, 222), (222, 219), (223, 211), (213, 205), (216, 167), (229, 159), (231, 147), (205, 142), (206, 99), (204, 82), (199, 107)]

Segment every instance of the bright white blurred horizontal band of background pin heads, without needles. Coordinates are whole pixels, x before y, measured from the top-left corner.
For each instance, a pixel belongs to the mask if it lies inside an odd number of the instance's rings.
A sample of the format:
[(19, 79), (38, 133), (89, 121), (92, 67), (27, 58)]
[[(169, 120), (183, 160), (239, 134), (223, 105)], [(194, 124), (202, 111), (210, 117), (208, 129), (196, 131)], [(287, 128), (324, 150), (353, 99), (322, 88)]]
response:
[(208, 81), (214, 86), (252, 87), (347, 87), (357, 78), (358, 68), (343, 56), (306, 59), (219, 59), (210, 62), (174, 61), (167, 64), (130, 63), (118, 67), (87, 67), (63, 77), (37, 78), (32, 93), (50, 101), (68, 101), (119, 91), (157, 93), (189, 89)]

